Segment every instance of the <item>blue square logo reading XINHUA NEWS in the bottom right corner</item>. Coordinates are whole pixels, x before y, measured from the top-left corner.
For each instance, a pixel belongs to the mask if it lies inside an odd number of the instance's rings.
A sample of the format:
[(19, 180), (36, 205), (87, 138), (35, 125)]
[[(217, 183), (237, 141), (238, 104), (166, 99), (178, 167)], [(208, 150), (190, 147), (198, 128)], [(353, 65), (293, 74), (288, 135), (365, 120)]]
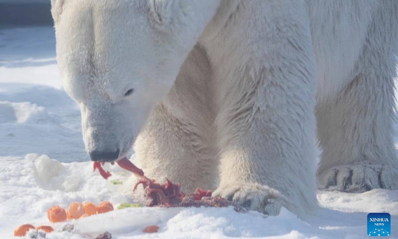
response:
[(390, 237), (391, 215), (389, 213), (368, 214), (368, 236)]

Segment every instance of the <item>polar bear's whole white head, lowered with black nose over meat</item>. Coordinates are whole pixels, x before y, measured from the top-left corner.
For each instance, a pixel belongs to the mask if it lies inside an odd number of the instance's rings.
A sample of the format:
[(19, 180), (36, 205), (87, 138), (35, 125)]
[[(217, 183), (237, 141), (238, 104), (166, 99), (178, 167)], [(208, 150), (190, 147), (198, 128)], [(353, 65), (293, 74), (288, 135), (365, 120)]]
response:
[(62, 84), (92, 160), (123, 157), (172, 87), (201, 31), (189, 2), (51, 1)]

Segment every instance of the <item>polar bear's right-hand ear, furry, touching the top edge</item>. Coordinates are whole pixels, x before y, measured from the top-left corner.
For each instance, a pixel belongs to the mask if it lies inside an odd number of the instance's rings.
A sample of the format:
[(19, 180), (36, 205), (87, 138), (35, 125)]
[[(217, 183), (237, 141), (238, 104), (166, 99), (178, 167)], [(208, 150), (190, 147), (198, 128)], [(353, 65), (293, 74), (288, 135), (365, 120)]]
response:
[(173, 29), (173, 13), (175, 0), (149, 0), (151, 23), (163, 29)]

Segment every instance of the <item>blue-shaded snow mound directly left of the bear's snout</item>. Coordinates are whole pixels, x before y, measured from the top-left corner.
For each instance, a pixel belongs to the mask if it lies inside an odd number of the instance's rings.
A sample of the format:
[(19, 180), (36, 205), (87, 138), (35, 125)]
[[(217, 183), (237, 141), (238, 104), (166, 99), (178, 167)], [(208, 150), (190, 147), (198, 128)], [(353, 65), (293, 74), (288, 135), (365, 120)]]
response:
[(87, 161), (80, 125), (80, 109), (64, 91), (0, 83), (0, 156), (38, 153)]

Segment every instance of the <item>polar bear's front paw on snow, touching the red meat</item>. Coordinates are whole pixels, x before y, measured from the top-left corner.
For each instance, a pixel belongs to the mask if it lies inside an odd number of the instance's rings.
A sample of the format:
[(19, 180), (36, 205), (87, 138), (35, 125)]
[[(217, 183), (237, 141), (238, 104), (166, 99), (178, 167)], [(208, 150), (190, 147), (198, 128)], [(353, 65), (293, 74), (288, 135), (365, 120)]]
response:
[(258, 183), (220, 186), (212, 196), (221, 196), (248, 210), (276, 216), (281, 211), (280, 194), (277, 190)]

